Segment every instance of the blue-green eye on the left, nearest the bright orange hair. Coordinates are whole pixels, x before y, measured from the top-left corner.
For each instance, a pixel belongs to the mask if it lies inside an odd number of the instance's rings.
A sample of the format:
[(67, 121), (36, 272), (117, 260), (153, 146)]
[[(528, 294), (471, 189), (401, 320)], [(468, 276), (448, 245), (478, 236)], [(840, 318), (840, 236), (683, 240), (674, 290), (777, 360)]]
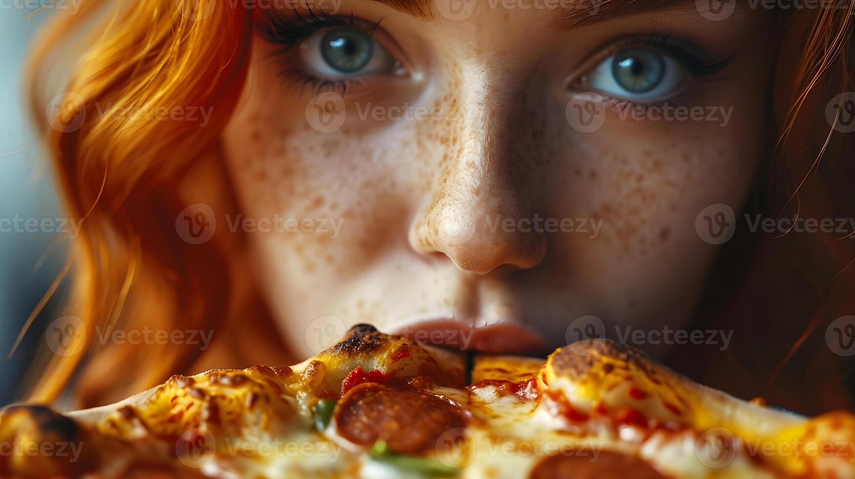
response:
[(312, 73), (333, 79), (394, 74), (398, 64), (374, 38), (356, 28), (319, 30), (306, 38), (300, 50)]

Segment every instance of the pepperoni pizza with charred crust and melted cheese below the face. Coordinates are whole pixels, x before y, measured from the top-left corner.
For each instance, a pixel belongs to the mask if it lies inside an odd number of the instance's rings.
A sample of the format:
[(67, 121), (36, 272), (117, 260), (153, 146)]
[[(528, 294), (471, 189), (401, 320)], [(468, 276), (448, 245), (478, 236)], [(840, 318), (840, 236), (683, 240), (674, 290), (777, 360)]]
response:
[(3, 477), (848, 478), (853, 445), (850, 413), (774, 411), (610, 340), (469, 364), (368, 325), (291, 367), (0, 414)]

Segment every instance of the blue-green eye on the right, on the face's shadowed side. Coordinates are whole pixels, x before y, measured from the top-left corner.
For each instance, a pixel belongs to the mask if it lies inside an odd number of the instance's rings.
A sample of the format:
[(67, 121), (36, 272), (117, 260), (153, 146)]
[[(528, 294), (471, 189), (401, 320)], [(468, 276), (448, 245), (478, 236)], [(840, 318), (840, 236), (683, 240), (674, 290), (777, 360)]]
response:
[(614, 98), (658, 100), (679, 92), (690, 78), (687, 69), (658, 50), (622, 50), (587, 75), (587, 86)]

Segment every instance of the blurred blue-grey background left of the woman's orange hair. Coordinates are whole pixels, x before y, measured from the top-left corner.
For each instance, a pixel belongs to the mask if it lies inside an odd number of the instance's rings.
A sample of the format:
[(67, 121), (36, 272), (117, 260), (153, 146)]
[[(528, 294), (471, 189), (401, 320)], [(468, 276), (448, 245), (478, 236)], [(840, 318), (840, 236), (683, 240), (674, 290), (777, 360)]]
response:
[[(27, 16), (38, 2), (0, 2), (0, 406), (15, 399), (36, 349), (52, 300), (9, 358), (27, 316), (56, 279), (63, 265), (62, 236), (15, 228), (28, 218), (61, 217), (54, 180), (34, 132), (25, 98), (22, 63), (38, 26), (50, 11)], [(38, 269), (38, 263), (44, 261)]]

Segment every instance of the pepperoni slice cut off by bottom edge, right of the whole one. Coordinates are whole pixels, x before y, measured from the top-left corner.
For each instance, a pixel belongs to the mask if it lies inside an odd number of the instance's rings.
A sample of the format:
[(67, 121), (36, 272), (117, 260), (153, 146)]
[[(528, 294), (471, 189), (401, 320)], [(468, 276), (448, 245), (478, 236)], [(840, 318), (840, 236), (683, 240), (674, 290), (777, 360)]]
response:
[(550, 456), (534, 466), (529, 479), (667, 479), (644, 459), (630, 454), (593, 451)]

